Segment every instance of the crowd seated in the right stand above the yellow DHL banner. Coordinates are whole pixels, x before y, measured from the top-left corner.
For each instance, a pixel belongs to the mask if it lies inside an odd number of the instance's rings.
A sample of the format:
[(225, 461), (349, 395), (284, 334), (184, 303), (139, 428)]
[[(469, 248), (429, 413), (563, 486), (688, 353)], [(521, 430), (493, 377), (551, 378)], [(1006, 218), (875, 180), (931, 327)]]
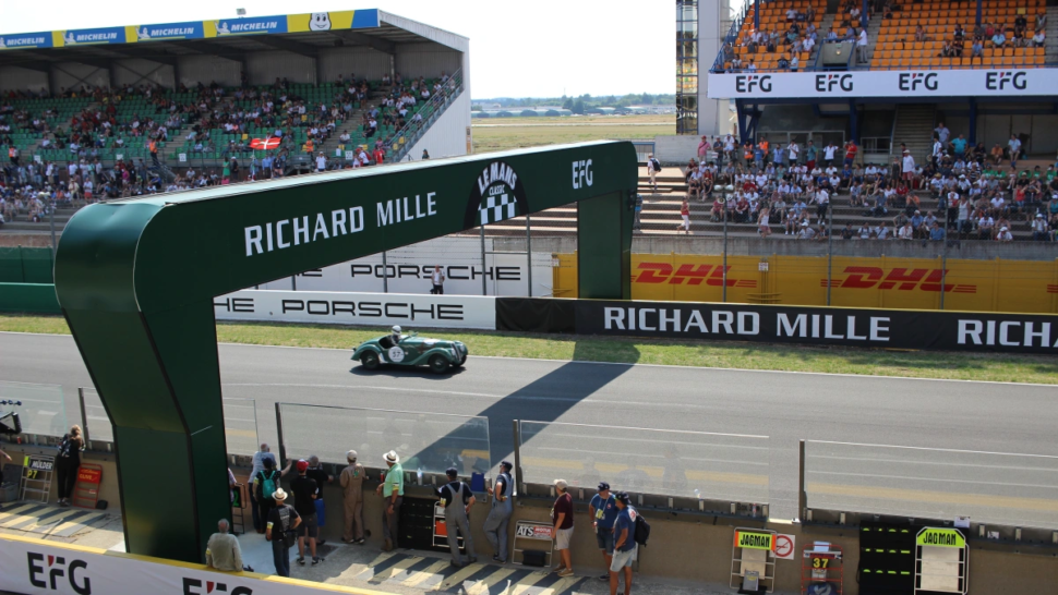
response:
[[(887, 167), (857, 162), (853, 141), (817, 147), (814, 141), (771, 143), (760, 135), (740, 143), (733, 135), (702, 136), (686, 169), (686, 201), (709, 206), (710, 220), (755, 223), (761, 236), (823, 240), (831, 203), (847, 196), (866, 221), (834, 226), (835, 239), (943, 241), (1013, 240), (1013, 222), (1025, 221), (1034, 241), (1058, 234), (1058, 169), (1018, 170), (1021, 142), (994, 154), (967, 148), (960, 135), (937, 127), (931, 158), (916, 163), (901, 146)], [(1010, 167), (1005, 167), (1005, 161)], [(919, 195), (928, 197), (931, 205)], [(711, 204), (710, 204), (711, 203)], [(689, 209), (685, 206), (683, 210)], [(689, 220), (680, 229), (689, 232)]]

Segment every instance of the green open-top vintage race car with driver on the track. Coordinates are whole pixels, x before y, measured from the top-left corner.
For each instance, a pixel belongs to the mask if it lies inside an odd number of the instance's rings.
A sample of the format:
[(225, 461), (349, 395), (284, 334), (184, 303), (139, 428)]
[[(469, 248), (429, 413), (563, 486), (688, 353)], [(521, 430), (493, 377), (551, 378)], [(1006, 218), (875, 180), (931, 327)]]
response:
[(419, 337), (418, 332), (401, 335), (400, 327), (393, 332), (368, 339), (352, 352), (366, 369), (377, 369), (383, 364), (395, 366), (428, 365), (436, 374), (444, 374), (452, 367), (467, 363), (467, 345), (460, 341), (442, 341)]

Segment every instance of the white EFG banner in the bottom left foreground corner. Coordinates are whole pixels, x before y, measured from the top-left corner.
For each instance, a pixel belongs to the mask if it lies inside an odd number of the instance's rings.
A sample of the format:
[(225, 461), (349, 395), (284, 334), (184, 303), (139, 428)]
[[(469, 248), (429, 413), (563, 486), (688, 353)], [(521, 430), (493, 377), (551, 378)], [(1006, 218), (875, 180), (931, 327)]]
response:
[[(270, 568), (270, 562), (269, 562)], [(51, 542), (0, 536), (0, 592), (24, 595), (312, 595), (362, 593), (337, 585), (266, 576), (253, 572), (219, 572), (145, 556), (88, 547), (62, 547)]]

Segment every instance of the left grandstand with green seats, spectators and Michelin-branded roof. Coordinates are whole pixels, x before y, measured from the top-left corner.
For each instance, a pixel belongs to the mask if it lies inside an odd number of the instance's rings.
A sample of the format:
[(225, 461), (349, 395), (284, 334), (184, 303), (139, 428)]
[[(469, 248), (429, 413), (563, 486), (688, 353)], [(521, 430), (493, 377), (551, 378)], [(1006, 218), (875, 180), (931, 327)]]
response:
[(99, 198), (465, 155), (468, 50), (378, 10), (2, 35), (2, 229), (46, 229), (41, 191), (61, 227)]

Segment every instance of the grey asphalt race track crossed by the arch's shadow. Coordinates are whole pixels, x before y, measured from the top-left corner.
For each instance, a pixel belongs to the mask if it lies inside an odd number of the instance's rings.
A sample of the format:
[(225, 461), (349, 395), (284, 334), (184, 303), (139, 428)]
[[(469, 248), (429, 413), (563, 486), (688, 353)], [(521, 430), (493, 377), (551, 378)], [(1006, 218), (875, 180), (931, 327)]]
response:
[[(766, 497), (772, 517), (788, 519), (796, 515), (801, 439), (961, 449), (975, 452), (809, 442), (809, 506), (844, 502), (1058, 529), (1054, 386), (473, 356), (465, 369), (435, 376), (425, 368), (365, 373), (350, 351), (219, 349), (225, 398), (255, 400), (259, 437), (268, 442), (276, 440), (277, 401), (484, 416), (490, 440), (481, 442), (491, 444), (492, 463), (512, 451), (512, 420), (685, 430), (541, 425), (522, 454), (531, 461), (528, 473), (540, 476), (532, 481), (563, 469), (575, 475), (587, 460), (617, 487), (611, 473), (628, 483), (669, 482), (665, 458), (678, 448), (687, 478), (680, 489)], [(0, 332), (0, 382), (11, 381), (62, 385), (71, 416), (77, 387), (92, 386), (71, 337)], [(386, 435), (370, 420), (327, 411), (304, 416), (311, 427), (288, 437), (288, 447), (300, 442), (329, 457), (369, 441), (361, 433)], [(249, 417), (249, 409), (242, 412)], [(417, 423), (406, 417), (401, 423)], [(250, 445), (252, 430), (240, 433)]]

